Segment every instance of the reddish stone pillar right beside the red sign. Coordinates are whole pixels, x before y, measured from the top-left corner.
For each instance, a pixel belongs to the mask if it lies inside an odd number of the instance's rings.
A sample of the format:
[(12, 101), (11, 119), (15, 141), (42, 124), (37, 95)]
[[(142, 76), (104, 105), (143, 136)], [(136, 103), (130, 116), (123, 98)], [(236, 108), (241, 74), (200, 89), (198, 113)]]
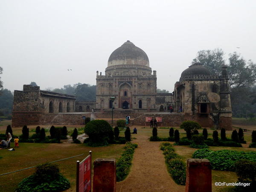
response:
[(116, 192), (116, 160), (96, 159), (93, 165), (93, 192)]

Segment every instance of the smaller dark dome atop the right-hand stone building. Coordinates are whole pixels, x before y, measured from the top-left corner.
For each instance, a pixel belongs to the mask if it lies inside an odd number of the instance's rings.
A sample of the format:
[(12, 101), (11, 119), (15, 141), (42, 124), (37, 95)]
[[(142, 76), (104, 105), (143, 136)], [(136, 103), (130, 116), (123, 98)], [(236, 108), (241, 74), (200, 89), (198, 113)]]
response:
[(193, 75), (211, 75), (211, 72), (201, 63), (194, 63), (181, 73), (181, 78)]

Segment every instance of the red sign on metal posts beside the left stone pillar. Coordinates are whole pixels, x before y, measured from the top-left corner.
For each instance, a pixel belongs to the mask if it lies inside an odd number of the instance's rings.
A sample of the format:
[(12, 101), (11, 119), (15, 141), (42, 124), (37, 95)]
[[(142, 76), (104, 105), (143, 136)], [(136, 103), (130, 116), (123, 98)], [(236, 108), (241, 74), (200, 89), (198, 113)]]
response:
[(76, 192), (91, 191), (92, 151), (81, 162), (76, 162)]

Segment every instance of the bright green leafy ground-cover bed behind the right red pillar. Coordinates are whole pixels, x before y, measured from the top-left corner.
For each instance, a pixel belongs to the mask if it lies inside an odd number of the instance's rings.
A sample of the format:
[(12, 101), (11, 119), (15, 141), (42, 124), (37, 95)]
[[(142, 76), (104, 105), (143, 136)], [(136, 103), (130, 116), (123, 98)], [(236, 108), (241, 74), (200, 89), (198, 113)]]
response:
[(212, 151), (207, 148), (204, 148), (195, 151), (192, 157), (199, 159), (208, 159), (212, 165), (212, 169), (221, 171), (235, 171), (235, 162), (241, 159), (256, 162), (256, 152), (254, 151)]

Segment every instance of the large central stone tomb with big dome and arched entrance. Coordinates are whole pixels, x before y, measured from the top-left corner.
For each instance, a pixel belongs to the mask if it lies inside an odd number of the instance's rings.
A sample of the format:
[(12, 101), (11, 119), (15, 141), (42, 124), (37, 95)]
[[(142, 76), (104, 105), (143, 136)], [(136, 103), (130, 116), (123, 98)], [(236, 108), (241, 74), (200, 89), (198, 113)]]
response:
[(147, 54), (127, 41), (112, 52), (105, 75), (96, 76), (96, 108), (156, 111), (157, 72), (149, 67)]

